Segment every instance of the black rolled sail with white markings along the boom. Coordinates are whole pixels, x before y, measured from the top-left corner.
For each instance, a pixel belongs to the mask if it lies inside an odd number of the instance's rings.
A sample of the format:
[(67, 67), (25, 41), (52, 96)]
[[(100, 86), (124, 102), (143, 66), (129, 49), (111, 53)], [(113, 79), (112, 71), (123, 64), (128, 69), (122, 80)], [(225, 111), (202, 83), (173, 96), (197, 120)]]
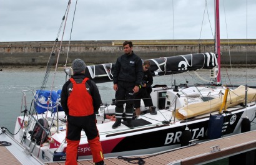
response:
[[(217, 66), (217, 57), (214, 53), (199, 53), (177, 55), (148, 59), (152, 75), (170, 75), (190, 70), (211, 69)], [(111, 82), (113, 80), (115, 63), (89, 65), (86, 67), (86, 76), (96, 83)]]

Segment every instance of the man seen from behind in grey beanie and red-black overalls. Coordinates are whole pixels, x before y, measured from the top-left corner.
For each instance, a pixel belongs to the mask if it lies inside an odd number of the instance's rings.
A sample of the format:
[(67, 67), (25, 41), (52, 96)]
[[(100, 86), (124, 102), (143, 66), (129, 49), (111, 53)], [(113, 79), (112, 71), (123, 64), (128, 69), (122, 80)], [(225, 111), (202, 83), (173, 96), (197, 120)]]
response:
[(77, 148), (81, 131), (86, 132), (96, 165), (104, 164), (95, 112), (101, 106), (101, 95), (96, 84), (84, 75), (86, 64), (81, 59), (72, 62), (74, 75), (63, 85), (61, 106), (67, 115), (66, 163), (77, 164)]

